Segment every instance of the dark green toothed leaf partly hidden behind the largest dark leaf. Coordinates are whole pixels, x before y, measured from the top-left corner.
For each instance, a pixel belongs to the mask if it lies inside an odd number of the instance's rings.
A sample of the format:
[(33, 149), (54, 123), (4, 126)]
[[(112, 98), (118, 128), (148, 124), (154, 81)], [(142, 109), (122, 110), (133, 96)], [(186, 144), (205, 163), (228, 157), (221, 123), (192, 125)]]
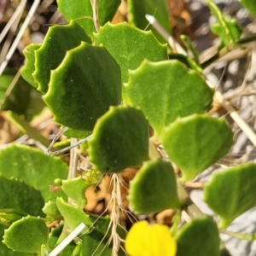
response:
[[(47, 92), (50, 71), (61, 64), (67, 50), (79, 46), (81, 41), (91, 42), (83, 28), (73, 20), (68, 25), (49, 27), (49, 31), (44, 38), (44, 43), (39, 49), (34, 51), (36, 68), (32, 76), (38, 82), (38, 90), (43, 93)], [(31, 61), (33, 60), (31, 59)]]

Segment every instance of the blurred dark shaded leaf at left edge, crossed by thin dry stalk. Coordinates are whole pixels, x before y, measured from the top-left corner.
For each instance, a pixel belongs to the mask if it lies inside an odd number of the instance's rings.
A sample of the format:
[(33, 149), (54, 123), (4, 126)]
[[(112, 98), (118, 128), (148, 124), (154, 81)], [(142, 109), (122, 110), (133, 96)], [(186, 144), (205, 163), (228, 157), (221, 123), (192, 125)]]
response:
[(0, 76), (0, 108), (15, 113), (25, 114), (30, 101), (31, 85), (22, 78), (18, 79), (15, 87), (6, 96), (9, 85), (15, 78), (15, 70), (9, 70)]

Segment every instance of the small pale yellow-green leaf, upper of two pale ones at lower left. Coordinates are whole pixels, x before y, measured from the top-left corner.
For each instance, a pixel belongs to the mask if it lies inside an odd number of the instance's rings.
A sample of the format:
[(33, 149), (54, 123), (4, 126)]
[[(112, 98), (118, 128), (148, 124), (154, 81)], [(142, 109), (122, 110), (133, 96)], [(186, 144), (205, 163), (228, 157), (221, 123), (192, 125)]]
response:
[(62, 190), (68, 197), (73, 199), (79, 208), (84, 208), (87, 200), (85, 198), (85, 189), (90, 187), (90, 183), (85, 183), (82, 177), (74, 177), (62, 180)]

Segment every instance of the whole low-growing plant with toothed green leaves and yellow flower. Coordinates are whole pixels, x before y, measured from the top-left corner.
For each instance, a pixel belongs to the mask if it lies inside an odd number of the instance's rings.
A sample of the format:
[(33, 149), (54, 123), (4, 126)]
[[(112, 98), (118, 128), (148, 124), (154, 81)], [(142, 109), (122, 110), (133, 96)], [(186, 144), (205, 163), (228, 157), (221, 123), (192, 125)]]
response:
[[(153, 32), (152, 26), (142, 30), (148, 24), (145, 15), (155, 15), (161, 26), (171, 29), (164, 0), (129, 0), (130, 23), (115, 25), (108, 20), (113, 19), (119, 0), (57, 3), (67, 25), (50, 26), (43, 44), (26, 47), (21, 74), (43, 94), (55, 122), (68, 127), (67, 136), (86, 142), (83, 154), (91, 167), (78, 173), (73, 155), (67, 166), (61, 158), (27, 146), (3, 149), (1, 255), (53, 255), (81, 223), (85, 227), (79, 238), (59, 255), (228, 253), (219, 232), (255, 206), (256, 165), (249, 162), (214, 173), (204, 186), (204, 200), (218, 221), (195, 207), (183, 184), (216, 164), (233, 145), (234, 135), (224, 117), (208, 113), (214, 89), (202, 71), (252, 37), (241, 38), (236, 20), (226, 19), (208, 1), (218, 20), (212, 31), (221, 44), (218, 55), (200, 63), (189, 38), (182, 37), (192, 57), (175, 53), (157, 27)], [(255, 14), (249, 0), (241, 3)], [(17, 114), (10, 115), (22, 123)], [(38, 140), (47, 144), (40, 135)], [(173, 165), (181, 173), (174, 172)], [(125, 244), (127, 231), (119, 224), (120, 211), (125, 210), (120, 185), (128, 167), (139, 167), (127, 197), (133, 212), (173, 209), (176, 214), (171, 230), (144, 222), (134, 225)], [(102, 175), (111, 175), (113, 182), (110, 217), (83, 210), (85, 190), (101, 183)], [(188, 223), (181, 225), (182, 212)], [(53, 223), (57, 225), (49, 228)]]

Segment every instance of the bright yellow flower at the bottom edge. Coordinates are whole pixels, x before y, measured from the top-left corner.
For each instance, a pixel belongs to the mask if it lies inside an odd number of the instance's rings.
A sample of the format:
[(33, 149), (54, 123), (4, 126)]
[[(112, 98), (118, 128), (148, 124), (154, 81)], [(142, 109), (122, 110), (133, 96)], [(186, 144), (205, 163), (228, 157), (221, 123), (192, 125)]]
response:
[(174, 256), (177, 243), (167, 226), (140, 221), (128, 232), (125, 249), (131, 256)]

